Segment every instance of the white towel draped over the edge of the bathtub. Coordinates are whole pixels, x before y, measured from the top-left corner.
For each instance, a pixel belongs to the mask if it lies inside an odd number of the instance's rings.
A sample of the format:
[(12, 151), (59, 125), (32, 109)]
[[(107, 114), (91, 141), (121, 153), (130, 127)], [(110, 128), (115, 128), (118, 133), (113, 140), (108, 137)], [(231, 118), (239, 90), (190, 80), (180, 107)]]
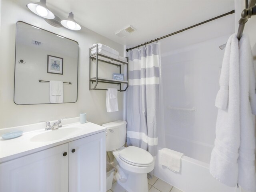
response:
[(174, 172), (180, 172), (181, 158), (183, 155), (183, 153), (168, 148), (162, 148), (159, 151), (159, 163)]

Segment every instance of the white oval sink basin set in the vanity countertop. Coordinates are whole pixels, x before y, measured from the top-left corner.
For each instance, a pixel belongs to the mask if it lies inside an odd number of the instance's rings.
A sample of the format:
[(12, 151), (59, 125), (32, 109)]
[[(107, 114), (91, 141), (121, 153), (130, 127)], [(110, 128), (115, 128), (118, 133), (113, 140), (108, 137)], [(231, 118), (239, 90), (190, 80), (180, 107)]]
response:
[(60, 128), (55, 130), (48, 130), (38, 135), (33, 136), (30, 141), (32, 142), (48, 142), (63, 139), (66, 137), (73, 136), (82, 131), (82, 128), (78, 127), (69, 127), (69, 128)]

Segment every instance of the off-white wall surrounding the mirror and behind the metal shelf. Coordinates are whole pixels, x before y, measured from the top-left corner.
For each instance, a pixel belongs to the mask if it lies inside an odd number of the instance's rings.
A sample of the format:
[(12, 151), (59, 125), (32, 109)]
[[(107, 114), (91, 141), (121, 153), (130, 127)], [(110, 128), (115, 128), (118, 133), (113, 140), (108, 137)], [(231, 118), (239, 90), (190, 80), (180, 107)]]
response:
[[(117, 44), (87, 28), (76, 32), (66, 28), (54, 28), (44, 19), (36, 16), (26, 8), (26, 1), (2, 1), (2, 20), (0, 37), (0, 128), (18, 126), (39, 121), (58, 120), (62, 117), (76, 117), (86, 112), (88, 121), (103, 124), (123, 118), (123, 92), (118, 92), (119, 111), (106, 112), (106, 91), (89, 91), (89, 48), (93, 43), (103, 43), (123, 51)], [(27, 22), (34, 26), (73, 39), (79, 44), (78, 101), (70, 104), (16, 105), (13, 102), (14, 92), (14, 59), (16, 22)]]

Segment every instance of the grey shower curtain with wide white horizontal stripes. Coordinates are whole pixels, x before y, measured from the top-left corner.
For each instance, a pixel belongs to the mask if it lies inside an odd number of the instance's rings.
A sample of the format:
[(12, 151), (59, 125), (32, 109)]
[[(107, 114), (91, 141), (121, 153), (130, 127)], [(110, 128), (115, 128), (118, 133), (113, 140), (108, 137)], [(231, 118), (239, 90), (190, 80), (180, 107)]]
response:
[[(158, 44), (129, 51), (127, 144), (148, 150), (154, 159), (158, 144), (159, 64)], [(152, 174), (148, 177), (152, 177)]]

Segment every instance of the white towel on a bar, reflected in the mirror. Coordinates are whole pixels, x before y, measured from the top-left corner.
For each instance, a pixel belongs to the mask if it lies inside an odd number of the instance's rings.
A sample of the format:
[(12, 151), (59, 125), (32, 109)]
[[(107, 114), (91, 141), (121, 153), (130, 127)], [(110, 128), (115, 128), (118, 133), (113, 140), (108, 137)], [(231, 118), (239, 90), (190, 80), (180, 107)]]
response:
[(63, 103), (63, 82), (50, 81), (49, 83), (50, 103)]

